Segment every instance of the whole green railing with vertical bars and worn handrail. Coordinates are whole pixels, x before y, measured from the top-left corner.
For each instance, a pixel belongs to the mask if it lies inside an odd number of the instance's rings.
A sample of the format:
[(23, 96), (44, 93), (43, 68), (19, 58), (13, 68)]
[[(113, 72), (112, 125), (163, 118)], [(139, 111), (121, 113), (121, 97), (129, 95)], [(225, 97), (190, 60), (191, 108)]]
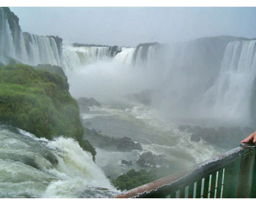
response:
[(255, 179), (255, 146), (246, 144), (115, 198), (256, 198)]

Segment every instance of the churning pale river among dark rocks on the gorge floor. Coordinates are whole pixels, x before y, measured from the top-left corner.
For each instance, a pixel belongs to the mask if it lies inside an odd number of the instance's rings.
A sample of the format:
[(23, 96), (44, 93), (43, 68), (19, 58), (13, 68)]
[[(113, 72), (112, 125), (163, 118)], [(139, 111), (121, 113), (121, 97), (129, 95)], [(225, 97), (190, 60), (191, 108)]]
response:
[[(140, 169), (135, 161), (139, 154), (147, 151), (165, 155), (172, 164), (168, 174), (189, 168), (223, 151), (204, 141), (191, 141), (191, 133), (178, 130), (179, 124), (164, 120), (157, 110), (142, 104), (102, 105), (91, 107), (90, 112), (81, 115), (83, 121), (91, 122), (89, 128), (110, 137), (130, 137), (142, 145), (143, 150), (127, 153), (96, 149), (97, 165), (112, 178), (126, 173), (130, 168)], [(121, 164), (121, 160), (132, 161), (133, 166), (127, 168)]]

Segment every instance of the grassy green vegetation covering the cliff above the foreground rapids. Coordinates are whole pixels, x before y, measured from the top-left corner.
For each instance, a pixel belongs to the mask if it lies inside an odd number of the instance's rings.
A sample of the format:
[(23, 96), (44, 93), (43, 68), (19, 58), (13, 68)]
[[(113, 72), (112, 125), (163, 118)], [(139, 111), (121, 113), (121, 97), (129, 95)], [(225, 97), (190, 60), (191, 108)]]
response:
[(1, 67), (0, 121), (50, 140), (72, 137), (95, 160), (95, 149), (82, 140), (78, 104), (69, 93), (66, 77), (25, 64)]

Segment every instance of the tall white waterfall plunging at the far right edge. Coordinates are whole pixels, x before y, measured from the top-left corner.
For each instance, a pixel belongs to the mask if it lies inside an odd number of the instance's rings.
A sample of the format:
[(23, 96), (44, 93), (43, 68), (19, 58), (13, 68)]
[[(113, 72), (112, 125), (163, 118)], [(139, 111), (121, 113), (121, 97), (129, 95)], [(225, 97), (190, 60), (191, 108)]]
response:
[(251, 115), (250, 99), (255, 76), (256, 40), (229, 43), (219, 78), (205, 93), (204, 103), (210, 104), (215, 117), (246, 122)]

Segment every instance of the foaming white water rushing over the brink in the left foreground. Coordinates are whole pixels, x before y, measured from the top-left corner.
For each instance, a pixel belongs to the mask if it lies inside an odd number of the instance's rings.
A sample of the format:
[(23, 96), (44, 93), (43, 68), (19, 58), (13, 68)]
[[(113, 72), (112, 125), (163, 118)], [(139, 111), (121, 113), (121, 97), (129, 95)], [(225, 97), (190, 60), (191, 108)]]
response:
[[(90, 153), (71, 138), (48, 141), (10, 128), (0, 126), (0, 198), (106, 198), (119, 193)], [(51, 164), (50, 154), (58, 164)]]

